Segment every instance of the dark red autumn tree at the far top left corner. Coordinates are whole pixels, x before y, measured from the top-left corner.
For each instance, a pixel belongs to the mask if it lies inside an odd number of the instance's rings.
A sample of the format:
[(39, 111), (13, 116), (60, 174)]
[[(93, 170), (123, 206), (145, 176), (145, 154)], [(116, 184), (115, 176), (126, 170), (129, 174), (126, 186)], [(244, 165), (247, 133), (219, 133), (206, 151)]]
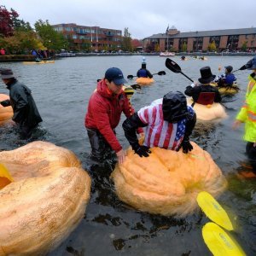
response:
[(14, 9), (7, 10), (5, 6), (0, 5), (0, 37), (9, 37), (14, 32), (14, 20), (19, 17)]

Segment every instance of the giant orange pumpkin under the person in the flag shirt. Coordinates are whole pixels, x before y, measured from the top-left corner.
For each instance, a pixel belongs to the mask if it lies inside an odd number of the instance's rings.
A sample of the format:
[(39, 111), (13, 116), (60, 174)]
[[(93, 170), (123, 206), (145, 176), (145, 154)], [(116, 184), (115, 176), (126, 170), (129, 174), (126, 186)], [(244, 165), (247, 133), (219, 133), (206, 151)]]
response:
[(183, 216), (197, 207), (199, 192), (222, 192), (222, 172), (207, 151), (191, 144), (189, 154), (150, 148), (152, 153), (143, 158), (128, 148), (125, 163), (112, 173), (119, 199), (143, 212)]

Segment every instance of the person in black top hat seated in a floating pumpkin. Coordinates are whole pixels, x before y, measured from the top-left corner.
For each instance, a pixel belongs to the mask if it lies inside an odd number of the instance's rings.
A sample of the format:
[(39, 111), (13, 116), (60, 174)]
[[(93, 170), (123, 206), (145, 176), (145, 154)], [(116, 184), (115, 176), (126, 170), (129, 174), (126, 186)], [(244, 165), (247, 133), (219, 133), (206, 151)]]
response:
[[(198, 79), (200, 84), (191, 84), (187, 86), (186, 90), (184, 91), (185, 95), (192, 96), (194, 102), (197, 102), (203, 105), (211, 104), (209, 102), (221, 102), (221, 96), (218, 89), (210, 85), (210, 83), (216, 77), (215, 75), (212, 74), (211, 68), (201, 67), (200, 73), (201, 73), (201, 78)], [(206, 95), (201, 93), (207, 93), (207, 92), (212, 93), (211, 94), (212, 99), (210, 98), (203, 99), (201, 97), (201, 95)]]

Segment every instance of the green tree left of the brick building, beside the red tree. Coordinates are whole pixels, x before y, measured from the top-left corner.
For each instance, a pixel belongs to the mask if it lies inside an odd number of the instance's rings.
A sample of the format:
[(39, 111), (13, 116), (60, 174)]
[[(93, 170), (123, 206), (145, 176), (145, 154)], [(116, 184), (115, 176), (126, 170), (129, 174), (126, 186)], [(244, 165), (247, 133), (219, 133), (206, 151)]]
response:
[(68, 45), (67, 39), (64, 38), (63, 34), (55, 32), (48, 20), (38, 20), (34, 26), (47, 49), (60, 50)]

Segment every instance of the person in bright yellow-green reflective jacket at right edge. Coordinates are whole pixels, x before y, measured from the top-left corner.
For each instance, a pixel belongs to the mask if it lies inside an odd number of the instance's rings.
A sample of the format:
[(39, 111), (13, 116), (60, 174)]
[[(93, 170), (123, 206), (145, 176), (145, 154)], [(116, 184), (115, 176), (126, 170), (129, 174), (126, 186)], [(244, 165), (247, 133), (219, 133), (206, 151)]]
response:
[(233, 129), (245, 123), (244, 140), (247, 141), (246, 153), (253, 166), (256, 177), (256, 55), (247, 62), (247, 69), (253, 70), (248, 76), (247, 94), (244, 105), (236, 116)]

